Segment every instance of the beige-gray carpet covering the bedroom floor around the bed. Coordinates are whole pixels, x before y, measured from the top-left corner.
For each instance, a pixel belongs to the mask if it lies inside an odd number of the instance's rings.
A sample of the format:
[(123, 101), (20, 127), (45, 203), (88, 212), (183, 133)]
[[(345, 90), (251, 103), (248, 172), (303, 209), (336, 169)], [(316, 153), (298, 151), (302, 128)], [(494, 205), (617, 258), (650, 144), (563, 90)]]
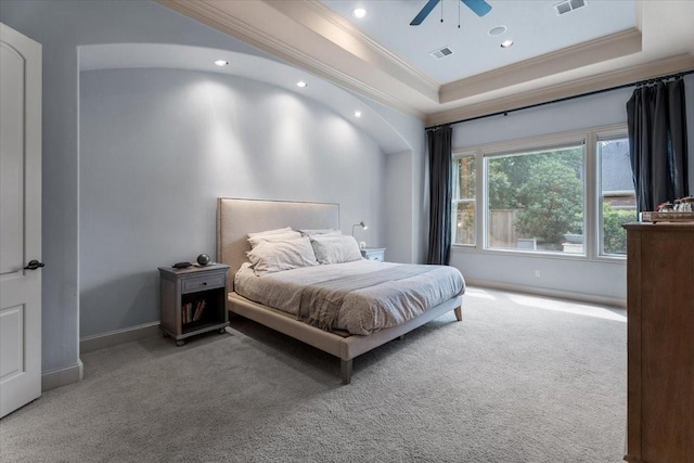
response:
[(9, 462), (619, 462), (625, 312), (471, 288), (355, 360), (243, 319), (82, 356), (82, 382), (0, 421)]

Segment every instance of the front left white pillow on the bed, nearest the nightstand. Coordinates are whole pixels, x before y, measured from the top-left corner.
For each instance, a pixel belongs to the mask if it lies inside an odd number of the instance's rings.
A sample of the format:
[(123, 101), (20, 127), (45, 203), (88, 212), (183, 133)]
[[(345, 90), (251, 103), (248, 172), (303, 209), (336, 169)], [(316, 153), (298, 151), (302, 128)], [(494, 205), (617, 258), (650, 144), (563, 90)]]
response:
[(257, 275), (318, 265), (311, 242), (306, 236), (277, 242), (261, 241), (247, 254)]

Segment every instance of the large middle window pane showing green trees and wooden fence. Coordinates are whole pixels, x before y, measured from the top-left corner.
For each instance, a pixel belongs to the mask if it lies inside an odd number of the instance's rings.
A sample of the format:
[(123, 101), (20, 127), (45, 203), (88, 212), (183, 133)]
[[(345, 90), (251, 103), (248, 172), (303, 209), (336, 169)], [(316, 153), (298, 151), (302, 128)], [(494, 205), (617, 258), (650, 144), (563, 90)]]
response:
[(583, 146), (486, 159), (488, 248), (584, 254)]

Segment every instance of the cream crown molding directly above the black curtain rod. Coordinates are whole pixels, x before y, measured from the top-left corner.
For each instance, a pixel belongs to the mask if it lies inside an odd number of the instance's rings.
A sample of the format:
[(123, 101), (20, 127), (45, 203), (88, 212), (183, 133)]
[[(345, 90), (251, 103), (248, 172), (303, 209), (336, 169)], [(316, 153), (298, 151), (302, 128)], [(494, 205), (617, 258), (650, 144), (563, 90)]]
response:
[(692, 69), (694, 69), (694, 55), (680, 54), (582, 79), (571, 80), (570, 82), (543, 87), (522, 94), (498, 98), (491, 101), (435, 113), (426, 118), (426, 125), (436, 126), (441, 124), (454, 124), (491, 114), (499, 114), (537, 104), (550, 103), (555, 100), (577, 97), (594, 91), (628, 86), (641, 80), (683, 73)]

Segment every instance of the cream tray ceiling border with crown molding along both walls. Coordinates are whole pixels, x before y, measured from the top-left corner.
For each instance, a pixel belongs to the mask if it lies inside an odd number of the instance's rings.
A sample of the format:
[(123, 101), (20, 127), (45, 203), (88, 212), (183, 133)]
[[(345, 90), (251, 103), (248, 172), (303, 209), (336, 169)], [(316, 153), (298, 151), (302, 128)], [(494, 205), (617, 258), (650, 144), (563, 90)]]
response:
[[(644, 33), (651, 37), (650, 47), (643, 46), (643, 10), (651, 3), (640, 0), (638, 28), (442, 86), (318, 0), (156, 1), (243, 41), (260, 56), (301, 68), (426, 125), (503, 113), (694, 68), (694, 50), (682, 47), (671, 53), (689, 54), (656, 61), (663, 51), (653, 48), (653, 33), (648, 33), (655, 23)], [(680, 23), (682, 36), (685, 27)], [(641, 64), (647, 56), (651, 61)], [(626, 68), (615, 69), (620, 66)], [(591, 72), (595, 75), (589, 76)]]

